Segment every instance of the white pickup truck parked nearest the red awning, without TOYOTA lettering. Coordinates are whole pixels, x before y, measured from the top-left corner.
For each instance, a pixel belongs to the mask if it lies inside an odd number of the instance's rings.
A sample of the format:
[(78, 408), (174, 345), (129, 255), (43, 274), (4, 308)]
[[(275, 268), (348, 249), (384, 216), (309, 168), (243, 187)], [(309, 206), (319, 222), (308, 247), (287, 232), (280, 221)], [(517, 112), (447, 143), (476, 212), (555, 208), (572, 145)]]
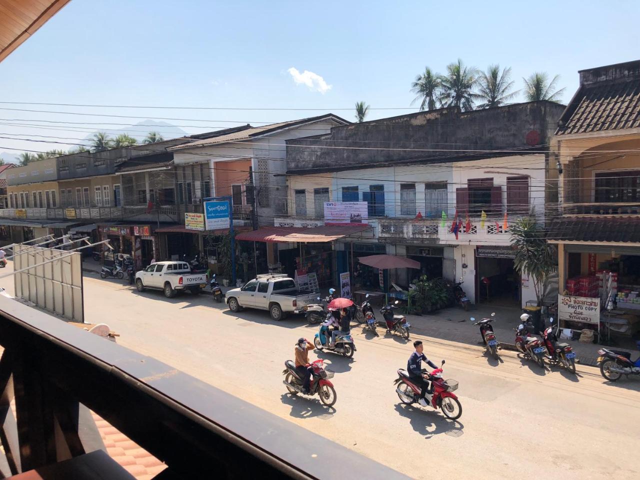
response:
[(225, 295), (225, 302), (232, 312), (242, 308), (269, 310), (271, 318), (282, 320), (287, 314), (303, 312), (305, 305), (314, 303), (318, 294), (298, 290), (296, 282), (286, 275), (258, 275), (239, 289)]

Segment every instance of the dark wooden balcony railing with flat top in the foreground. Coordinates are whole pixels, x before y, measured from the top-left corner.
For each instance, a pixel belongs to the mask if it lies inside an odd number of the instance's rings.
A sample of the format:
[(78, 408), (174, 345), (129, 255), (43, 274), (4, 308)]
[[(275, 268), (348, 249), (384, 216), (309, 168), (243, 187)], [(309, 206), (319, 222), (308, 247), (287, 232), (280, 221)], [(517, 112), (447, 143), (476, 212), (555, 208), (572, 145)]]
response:
[(105, 477), (131, 478), (106, 455), (89, 411), (163, 461), (167, 468), (157, 479), (335, 479), (345, 468), (358, 479), (408, 478), (155, 358), (2, 296), (0, 344), (3, 478), (45, 466), (56, 478), (95, 478), (86, 465), (97, 460)]

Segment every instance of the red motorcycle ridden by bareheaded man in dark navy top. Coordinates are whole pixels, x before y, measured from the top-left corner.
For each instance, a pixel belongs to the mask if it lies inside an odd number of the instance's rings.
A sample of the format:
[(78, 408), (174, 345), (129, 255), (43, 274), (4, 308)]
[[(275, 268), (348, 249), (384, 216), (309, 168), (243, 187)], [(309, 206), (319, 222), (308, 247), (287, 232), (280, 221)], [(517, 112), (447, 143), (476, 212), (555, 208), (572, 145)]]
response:
[[(444, 360), (442, 360), (444, 365)], [(426, 372), (426, 370), (422, 370)], [(455, 380), (444, 380), (442, 378), (442, 368), (435, 369), (429, 374), (429, 381), (431, 381), (431, 387), (433, 388), (433, 394), (426, 394), (426, 401), (431, 403), (431, 406), (436, 410), (442, 409), (442, 413), (449, 420), (458, 420), (462, 415), (462, 406), (460, 400), (453, 393), (454, 390), (458, 390), (458, 382)], [(398, 378), (394, 380), (396, 387), (396, 393), (400, 401), (404, 404), (410, 405), (417, 403), (420, 398), (420, 387), (413, 383), (412, 378), (409, 376), (406, 370), (398, 370)]]

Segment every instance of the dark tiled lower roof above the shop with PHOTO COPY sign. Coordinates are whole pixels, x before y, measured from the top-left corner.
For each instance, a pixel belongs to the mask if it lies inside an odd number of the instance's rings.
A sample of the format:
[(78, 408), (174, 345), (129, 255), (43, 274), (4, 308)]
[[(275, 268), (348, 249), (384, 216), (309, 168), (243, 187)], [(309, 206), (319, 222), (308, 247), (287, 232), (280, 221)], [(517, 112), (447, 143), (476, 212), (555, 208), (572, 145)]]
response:
[(552, 220), (550, 240), (640, 243), (640, 218), (616, 216)]

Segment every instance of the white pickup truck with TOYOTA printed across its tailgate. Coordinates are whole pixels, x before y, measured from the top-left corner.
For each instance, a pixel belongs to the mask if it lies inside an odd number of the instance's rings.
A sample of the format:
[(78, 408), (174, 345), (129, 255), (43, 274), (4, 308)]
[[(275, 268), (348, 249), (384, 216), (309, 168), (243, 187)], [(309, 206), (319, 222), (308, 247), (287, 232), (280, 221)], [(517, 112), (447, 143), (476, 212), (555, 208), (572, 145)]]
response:
[(136, 273), (136, 288), (164, 291), (166, 298), (173, 298), (180, 291), (198, 293), (207, 286), (206, 273), (191, 273), (188, 263), (179, 261), (156, 262)]

